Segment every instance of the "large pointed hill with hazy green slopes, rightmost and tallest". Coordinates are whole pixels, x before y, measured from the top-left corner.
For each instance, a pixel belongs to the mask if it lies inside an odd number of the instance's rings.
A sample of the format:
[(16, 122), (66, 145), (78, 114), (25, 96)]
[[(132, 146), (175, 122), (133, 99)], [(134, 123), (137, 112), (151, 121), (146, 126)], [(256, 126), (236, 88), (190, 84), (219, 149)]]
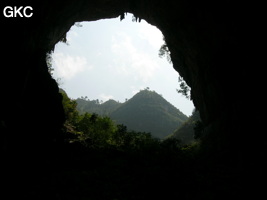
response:
[(150, 132), (155, 137), (164, 138), (187, 116), (156, 92), (143, 90), (114, 111), (111, 118), (130, 130)]

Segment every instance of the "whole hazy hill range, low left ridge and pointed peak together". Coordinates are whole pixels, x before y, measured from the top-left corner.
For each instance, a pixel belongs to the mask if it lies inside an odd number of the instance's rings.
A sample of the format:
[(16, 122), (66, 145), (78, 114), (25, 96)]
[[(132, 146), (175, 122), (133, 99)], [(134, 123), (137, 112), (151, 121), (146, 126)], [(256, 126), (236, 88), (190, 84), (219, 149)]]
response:
[(150, 132), (154, 137), (164, 138), (187, 120), (179, 109), (161, 95), (148, 89), (142, 90), (125, 103), (109, 100), (98, 101), (77, 99), (80, 112), (107, 115), (117, 124), (124, 124), (129, 130)]

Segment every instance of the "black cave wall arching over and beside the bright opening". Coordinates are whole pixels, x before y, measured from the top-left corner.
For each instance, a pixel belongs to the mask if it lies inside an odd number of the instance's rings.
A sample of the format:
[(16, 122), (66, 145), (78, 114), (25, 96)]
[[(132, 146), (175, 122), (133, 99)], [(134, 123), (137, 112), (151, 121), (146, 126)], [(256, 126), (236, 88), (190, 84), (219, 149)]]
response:
[[(251, 55), (246, 51), (249, 43), (244, 42), (250, 23), (244, 3), (67, 0), (23, 4), (33, 6), (32, 18), (1, 18), (6, 60), (1, 69), (4, 98), (0, 100), (4, 105), (0, 116), (4, 151), (36, 148), (45, 152), (53, 146), (64, 114), (58, 87), (47, 71), (46, 52), (75, 22), (113, 18), (124, 12), (145, 19), (164, 34), (173, 66), (192, 88), (193, 102), (214, 149), (230, 151), (227, 149), (236, 148), (234, 143), (240, 140), (247, 144), (242, 137), (243, 106), (252, 98), (243, 86), (251, 73), (244, 70), (249, 64), (244, 57)], [(1, 5), (10, 5), (10, 1)], [(240, 155), (239, 148), (236, 150)]]

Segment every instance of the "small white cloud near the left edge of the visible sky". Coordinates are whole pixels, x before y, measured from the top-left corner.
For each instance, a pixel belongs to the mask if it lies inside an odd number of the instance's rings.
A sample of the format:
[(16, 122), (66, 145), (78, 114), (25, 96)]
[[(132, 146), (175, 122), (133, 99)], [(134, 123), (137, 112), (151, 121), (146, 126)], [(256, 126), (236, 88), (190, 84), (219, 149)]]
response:
[(85, 57), (70, 56), (64, 53), (53, 54), (55, 76), (66, 80), (72, 79), (77, 74), (92, 69)]

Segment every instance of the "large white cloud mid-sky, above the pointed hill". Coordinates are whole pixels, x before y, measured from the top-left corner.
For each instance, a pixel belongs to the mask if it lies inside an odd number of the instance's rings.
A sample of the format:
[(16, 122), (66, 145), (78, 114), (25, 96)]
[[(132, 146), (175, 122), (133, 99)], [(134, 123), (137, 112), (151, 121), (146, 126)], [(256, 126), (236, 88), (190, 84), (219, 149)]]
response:
[(112, 53), (115, 69), (119, 74), (132, 75), (136, 80), (148, 82), (159, 68), (153, 57), (143, 49), (134, 46), (132, 38), (125, 33), (117, 33), (112, 37)]

